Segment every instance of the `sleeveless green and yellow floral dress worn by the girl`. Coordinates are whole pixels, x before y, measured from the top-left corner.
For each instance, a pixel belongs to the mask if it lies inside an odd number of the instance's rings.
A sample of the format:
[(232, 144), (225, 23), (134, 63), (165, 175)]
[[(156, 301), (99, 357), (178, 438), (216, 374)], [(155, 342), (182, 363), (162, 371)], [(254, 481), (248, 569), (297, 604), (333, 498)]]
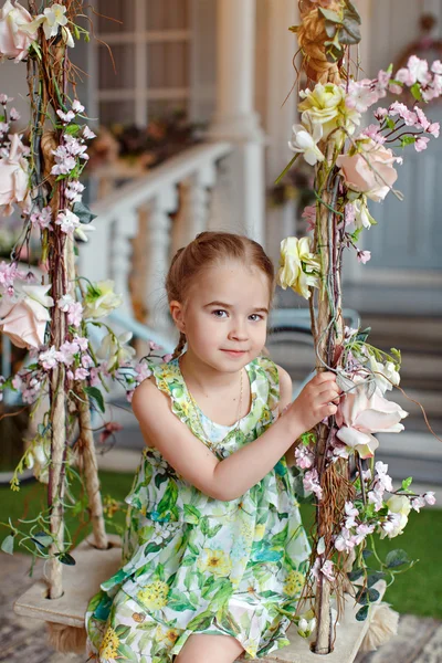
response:
[[(175, 414), (220, 460), (277, 418), (278, 373), (267, 358), (245, 367), (252, 403), (234, 427), (196, 411), (178, 360), (149, 368)], [(246, 659), (288, 644), (284, 612), (296, 610), (309, 547), (285, 459), (242, 497), (221, 502), (146, 448), (126, 502), (124, 566), (86, 612), (90, 660), (170, 663), (192, 633), (232, 635)]]

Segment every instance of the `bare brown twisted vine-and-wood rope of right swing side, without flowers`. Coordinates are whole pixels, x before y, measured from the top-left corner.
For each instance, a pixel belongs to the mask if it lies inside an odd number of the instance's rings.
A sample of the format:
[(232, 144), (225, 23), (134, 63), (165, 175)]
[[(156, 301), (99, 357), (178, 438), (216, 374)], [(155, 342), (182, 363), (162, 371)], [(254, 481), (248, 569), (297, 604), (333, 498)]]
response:
[[(341, 8), (339, 0), (333, 0), (327, 9), (338, 11)], [(339, 67), (337, 63), (327, 61), (324, 42), (327, 41), (325, 31), (325, 21), (318, 12), (317, 4), (308, 0), (301, 0), (299, 12), (302, 24), (297, 29), (298, 44), (303, 54), (303, 67), (307, 73), (308, 78), (316, 83), (340, 83)], [(318, 312), (315, 319), (314, 307), (312, 305), (312, 332), (315, 338), (315, 348), (320, 360), (318, 370), (326, 370), (326, 367), (334, 367), (335, 347), (340, 345), (344, 336), (344, 322), (341, 315), (340, 301), (340, 274), (338, 270), (337, 246), (336, 246), (336, 218), (333, 209), (336, 208), (336, 196), (338, 180), (335, 182), (319, 181), (319, 177), (326, 170), (329, 173), (334, 162), (334, 145), (332, 141), (322, 145), (323, 154), (326, 155), (325, 164), (316, 167), (316, 182), (319, 185), (320, 198), (318, 219), (316, 223), (314, 252), (320, 255), (320, 272), (323, 274), (322, 287), (318, 295)], [(326, 168), (324, 168), (326, 165)], [(328, 176), (327, 176), (328, 177)], [(312, 294), (313, 296), (313, 294)], [(328, 477), (326, 467), (327, 440), (329, 435), (329, 427), (319, 425), (319, 436), (316, 446), (316, 463), (319, 475), (319, 483), (324, 486), (327, 478), (333, 482), (339, 482), (339, 488), (345, 488), (345, 477), (340, 481), (339, 472), (335, 472), (333, 478)], [(341, 490), (338, 491), (343, 493)], [(345, 490), (344, 490), (345, 493)], [(343, 493), (343, 495), (344, 495)], [(336, 516), (334, 511), (341, 508), (343, 495), (335, 503), (333, 492), (324, 491), (323, 501), (318, 502), (316, 508), (317, 519), (317, 540), (320, 538), (325, 541), (325, 552), (319, 555), (320, 567), (326, 560), (326, 554), (329, 552), (334, 522)], [(345, 499), (345, 495), (344, 495)], [(332, 509), (332, 511), (330, 511)], [(334, 517), (335, 516), (335, 517)], [(347, 560), (346, 567), (351, 564)], [(333, 649), (333, 624), (330, 610), (332, 583), (327, 580), (324, 573), (318, 573), (315, 594), (315, 614), (317, 619), (317, 636), (315, 642), (315, 653), (328, 654)], [(338, 603), (341, 597), (337, 597)]]

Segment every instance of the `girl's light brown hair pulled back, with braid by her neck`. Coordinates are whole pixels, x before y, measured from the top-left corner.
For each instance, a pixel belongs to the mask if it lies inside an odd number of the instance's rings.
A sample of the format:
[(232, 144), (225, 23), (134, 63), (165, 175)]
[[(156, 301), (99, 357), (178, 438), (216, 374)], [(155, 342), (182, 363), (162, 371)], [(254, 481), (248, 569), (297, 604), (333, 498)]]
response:
[[(257, 267), (269, 278), (270, 299), (275, 290), (273, 263), (257, 242), (245, 235), (231, 232), (201, 232), (172, 257), (166, 276), (168, 302), (186, 302), (190, 285), (198, 274), (215, 263), (225, 260), (240, 260), (244, 265)], [(181, 332), (173, 358), (178, 357), (186, 345), (186, 334)]]

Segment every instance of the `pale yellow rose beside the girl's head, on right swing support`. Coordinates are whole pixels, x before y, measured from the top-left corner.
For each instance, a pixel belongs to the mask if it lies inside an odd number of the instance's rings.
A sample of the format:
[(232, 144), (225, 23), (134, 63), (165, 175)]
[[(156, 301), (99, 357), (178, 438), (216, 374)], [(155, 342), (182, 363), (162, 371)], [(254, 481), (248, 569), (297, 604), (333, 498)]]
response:
[(283, 290), (291, 287), (308, 299), (308, 287), (319, 285), (319, 259), (311, 251), (311, 238), (286, 238), (281, 242), (277, 284)]

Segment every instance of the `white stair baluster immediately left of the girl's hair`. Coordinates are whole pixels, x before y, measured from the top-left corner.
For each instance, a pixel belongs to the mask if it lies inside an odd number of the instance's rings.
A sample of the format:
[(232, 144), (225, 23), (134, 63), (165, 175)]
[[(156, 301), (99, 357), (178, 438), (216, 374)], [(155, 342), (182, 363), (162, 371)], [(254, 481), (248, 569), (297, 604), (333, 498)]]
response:
[(147, 255), (145, 303), (146, 323), (160, 332), (170, 329), (165, 276), (169, 265), (170, 230), (169, 214), (177, 209), (177, 188), (162, 187), (149, 206), (147, 231), (144, 241)]

